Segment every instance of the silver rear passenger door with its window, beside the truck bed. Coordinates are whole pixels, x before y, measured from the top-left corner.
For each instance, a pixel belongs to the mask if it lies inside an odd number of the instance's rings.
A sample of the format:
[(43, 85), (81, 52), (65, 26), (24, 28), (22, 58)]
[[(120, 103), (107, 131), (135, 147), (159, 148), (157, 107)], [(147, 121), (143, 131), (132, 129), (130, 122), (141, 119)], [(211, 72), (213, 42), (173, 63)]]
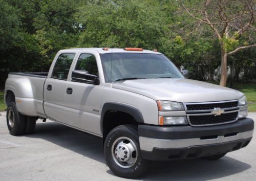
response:
[[(55, 60), (52, 74), (44, 85), (44, 109), (51, 120), (66, 123), (65, 97), (69, 71), (75, 58), (75, 53), (61, 53)], [(54, 62), (53, 62), (54, 63)]]

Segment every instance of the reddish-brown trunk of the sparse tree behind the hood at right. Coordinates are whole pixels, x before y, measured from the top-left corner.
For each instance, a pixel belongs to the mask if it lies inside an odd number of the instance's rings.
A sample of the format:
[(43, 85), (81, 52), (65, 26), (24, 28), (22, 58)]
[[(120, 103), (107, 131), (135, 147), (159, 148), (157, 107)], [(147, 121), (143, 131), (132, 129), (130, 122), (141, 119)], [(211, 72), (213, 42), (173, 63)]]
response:
[(221, 81), (220, 86), (227, 85), (227, 51), (221, 46)]

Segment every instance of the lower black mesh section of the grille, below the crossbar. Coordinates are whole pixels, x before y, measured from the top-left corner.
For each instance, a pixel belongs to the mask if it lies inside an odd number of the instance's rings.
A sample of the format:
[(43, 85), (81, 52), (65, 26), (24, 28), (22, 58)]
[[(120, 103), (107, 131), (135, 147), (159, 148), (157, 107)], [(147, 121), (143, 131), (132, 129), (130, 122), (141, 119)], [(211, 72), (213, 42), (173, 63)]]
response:
[(226, 122), (236, 121), (238, 112), (230, 112), (220, 116), (215, 115), (202, 115), (202, 116), (189, 116), (191, 125), (209, 125), (209, 124), (223, 124)]

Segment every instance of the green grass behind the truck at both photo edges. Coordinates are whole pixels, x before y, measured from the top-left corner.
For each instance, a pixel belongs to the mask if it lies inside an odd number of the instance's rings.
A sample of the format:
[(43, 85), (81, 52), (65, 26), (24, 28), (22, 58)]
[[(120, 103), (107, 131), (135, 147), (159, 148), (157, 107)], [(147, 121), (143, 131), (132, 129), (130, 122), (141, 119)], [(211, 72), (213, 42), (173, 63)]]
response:
[[(218, 82), (211, 82), (218, 84)], [(256, 83), (234, 83), (234, 89), (244, 93), (248, 101), (248, 111), (256, 112)], [(0, 91), (0, 111), (6, 110), (4, 103), (4, 92)]]

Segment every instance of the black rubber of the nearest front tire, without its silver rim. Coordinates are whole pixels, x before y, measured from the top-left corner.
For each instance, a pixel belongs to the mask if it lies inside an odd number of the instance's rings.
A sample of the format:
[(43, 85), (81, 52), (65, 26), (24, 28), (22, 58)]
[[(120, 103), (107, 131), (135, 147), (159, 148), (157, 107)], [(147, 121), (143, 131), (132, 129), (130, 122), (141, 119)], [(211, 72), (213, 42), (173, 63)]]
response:
[[(112, 145), (116, 139), (120, 137), (127, 137), (133, 140), (137, 147), (137, 161), (131, 168), (122, 168), (116, 164), (112, 157)], [(138, 139), (138, 133), (131, 127), (128, 126), (118, 126), (114, 128), (106, 137), (104, 143), (104, 155), (105, 160), (110, 169), (119, 176), (126, 178), (138, 177), (144, 173), (147, 167), (147, 161), (142, 159), (140, 153), (140, 145)]]

